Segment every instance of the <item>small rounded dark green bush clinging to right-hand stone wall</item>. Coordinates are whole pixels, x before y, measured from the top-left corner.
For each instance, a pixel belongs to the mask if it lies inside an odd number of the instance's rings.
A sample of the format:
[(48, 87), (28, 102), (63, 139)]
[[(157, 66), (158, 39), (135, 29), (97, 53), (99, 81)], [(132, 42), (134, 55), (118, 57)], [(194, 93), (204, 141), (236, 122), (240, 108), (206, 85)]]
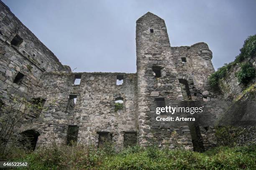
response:
[(255, 77), (255, 68), (250, 62), (242, 63), (241, 70), (236, 72), (238, 82), (247, 84), (253, 77)]

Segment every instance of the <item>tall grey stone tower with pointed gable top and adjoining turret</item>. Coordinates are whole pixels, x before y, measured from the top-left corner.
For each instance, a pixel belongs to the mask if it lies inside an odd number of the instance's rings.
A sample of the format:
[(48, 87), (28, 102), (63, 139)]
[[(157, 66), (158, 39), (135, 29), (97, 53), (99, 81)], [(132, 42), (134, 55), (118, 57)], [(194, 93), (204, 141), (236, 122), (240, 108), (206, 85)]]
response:
[(176, 133), (185, 148), (203, 147), (198, 127), (154, 120), (156, 107), (176, 105), (182, 100), (203, 100), (207, 77), (214, 72), (207, 44), (171, 47), (164, 20), (148, 12), (136, 22), (136, 55), (138, 143), (173, 148)]

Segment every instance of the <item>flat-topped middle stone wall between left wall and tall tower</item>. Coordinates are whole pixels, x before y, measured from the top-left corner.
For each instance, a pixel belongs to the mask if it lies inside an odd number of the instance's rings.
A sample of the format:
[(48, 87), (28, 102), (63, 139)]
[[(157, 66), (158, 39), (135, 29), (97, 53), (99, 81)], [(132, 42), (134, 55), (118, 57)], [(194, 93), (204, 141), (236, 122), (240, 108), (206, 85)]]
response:
[[(77, 75), (81, 82), (74, 85)], [(123, 77), (122, 85), (116, 84), (118, 76)], [(79, 143), (98, 145), (104, 136), (111, 136), (113, 145), (123, 148), (124, 134), (137, 132), (136, 85), (136, 74), (46, 72), (43, 90), (37, 94), (46, 99), (45, 109), (33, 124), (40, 132), (38, 144), (65, 144), (69, 125), (77, 125)], [(67, 110), (70, 95), (77, 100)], [(120, 98), (123, 108), (115, 111), (115, 100)]]

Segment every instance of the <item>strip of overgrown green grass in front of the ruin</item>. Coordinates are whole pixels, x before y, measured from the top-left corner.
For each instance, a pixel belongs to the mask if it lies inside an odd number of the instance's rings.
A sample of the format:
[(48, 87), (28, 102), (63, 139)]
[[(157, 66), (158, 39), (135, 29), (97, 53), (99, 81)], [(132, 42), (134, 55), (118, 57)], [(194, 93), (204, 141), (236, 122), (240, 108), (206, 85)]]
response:
[(139, 146), (116, 153), (112, 147), (53, 145), (33, 153), (16, 149), (1, 160), (28, 161), (31, 170), (253, 170), (256, 145), (217, 147), (205, 153)]

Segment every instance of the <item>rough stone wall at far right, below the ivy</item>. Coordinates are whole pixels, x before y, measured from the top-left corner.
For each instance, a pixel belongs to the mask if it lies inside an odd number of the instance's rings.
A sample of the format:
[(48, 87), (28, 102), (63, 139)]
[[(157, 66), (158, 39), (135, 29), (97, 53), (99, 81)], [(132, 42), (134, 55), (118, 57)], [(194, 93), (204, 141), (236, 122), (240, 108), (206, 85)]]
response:
[[(245, 60), (242, 61), (242, 63), (244, 62), (251, 62), (253, 67), (256, 69), (255, 55), (249, 58), (246, 58)], [(220, 80), (219, 87), (220, 87), (221, 93), (223, 94), (223, 98), (225, 100), (232, 100), (232, 101), (236, 100), (238, 102), (244, 101), (248, 103), (248, 105), (246, 105), (247, 110), (245, 110), (245, 112), (248, 113), (252, 110), (255, 110), (256, 77), (254, 77), (250, 82), (248, 82), (247, 85), (240, 83), (238, 82), (238, 79), (236, 77), (236, 72), (238, 72), (240, 69), (241, 67), (239, 64), (231, 66), (231, 68), (228, 70), (225, 77), (222, 80)], [(250, 90), (246, 90), (248, 88)], [(251, 102), (254, 103), (254, 105), (251, 105)], [(255, 114), (251, 114), (249, 117), (244, 115), (244, 117), (247, 119), (249, 118), (249, 120), (253, 120), (254, 122), (256, 121)], [(234, 136), (233, 134), (238, 134), (233, 139), (237, 145), (248, 145), (251, 143), (256, 143), (256, 125), (232, 127), (230, 130), (230, 135)]]

